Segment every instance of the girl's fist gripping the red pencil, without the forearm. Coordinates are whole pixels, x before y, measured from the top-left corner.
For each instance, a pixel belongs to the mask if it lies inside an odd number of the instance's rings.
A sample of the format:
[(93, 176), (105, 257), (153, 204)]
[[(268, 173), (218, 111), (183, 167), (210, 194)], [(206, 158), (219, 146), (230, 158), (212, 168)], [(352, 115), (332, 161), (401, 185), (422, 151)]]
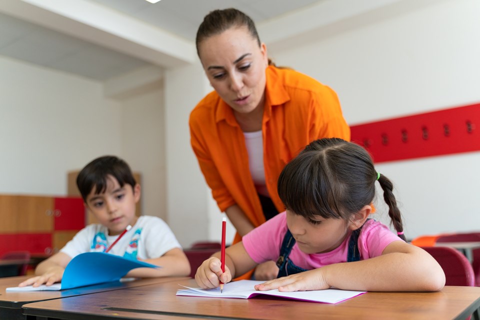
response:
[(196, 269), (195, 281), (203, 289), (216, 288), (220, 285), (220, 281), (230, 282), (231, 273), (226, 265), (225, 272), (222, 272), (220, 259), (210, 257)]

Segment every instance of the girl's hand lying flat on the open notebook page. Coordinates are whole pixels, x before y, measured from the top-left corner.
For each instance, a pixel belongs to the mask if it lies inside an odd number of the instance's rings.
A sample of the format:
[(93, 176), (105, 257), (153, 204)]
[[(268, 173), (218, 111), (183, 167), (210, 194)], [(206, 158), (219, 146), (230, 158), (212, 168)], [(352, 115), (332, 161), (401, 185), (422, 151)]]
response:
[(330, 285), (326, 282), (321, 268), (308, 270), (281, 278), (266, 281), (255, 285), (255, 290), (267, 291), (278, 289), (278, 291), (308, 291), (328, 289)]

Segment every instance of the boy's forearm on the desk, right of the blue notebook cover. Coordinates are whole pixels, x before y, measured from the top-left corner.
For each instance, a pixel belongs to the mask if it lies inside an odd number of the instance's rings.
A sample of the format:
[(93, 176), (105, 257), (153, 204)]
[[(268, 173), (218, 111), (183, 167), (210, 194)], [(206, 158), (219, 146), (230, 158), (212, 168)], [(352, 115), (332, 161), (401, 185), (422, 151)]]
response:
[(131, 277), (156, 277), (156, 276), (183, 276), (190, 274), (190, 262), (180, 248), (166, 251), (162, 256), (142, 261), (159, 265), (160, 268), (136, 268), (130, 270), (125, 276)]

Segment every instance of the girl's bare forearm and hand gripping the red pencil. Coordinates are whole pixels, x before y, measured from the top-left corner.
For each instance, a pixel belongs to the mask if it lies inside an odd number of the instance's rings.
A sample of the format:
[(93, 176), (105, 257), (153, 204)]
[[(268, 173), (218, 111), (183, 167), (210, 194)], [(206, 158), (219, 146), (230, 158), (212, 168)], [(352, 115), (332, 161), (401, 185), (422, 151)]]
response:
[(225, 249), (225, 272), (221, 271), (220, 252), (218, 251), (198, 267), (195, 280), (204, 289), (216, 288), (220, 285), (220, 281), (230, 282), (232, 278), (251, 270), (257, 264), (246, 253), (245, 247), (240, 241)]

